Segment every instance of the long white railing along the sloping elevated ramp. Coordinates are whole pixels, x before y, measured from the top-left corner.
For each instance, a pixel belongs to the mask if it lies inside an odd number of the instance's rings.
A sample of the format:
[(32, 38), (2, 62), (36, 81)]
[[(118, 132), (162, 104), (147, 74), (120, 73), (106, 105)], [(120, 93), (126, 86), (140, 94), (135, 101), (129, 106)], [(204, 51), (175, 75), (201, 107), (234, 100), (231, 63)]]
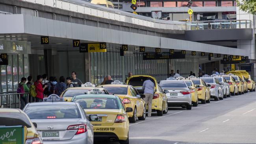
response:
[(40, 4), (43, 6), (55, 7), (58, 9), (64, 9), (76, 13), (83, 13), (100, 18), (106, 18), (119, 22), (127, 22), (131, 24), (147, 26), (150, 28), (159, 28), (167, 30), (185, 30), (185, 22), (159, 20), (150, 17), (144, 17), (141, 15), (135, 15), (118, 9), (105, 8), (89, 2), (76, 4), (74, 2), (67, 2), (65, 0), (22, 0), (25, 2), (31, 2), (34, 4)]

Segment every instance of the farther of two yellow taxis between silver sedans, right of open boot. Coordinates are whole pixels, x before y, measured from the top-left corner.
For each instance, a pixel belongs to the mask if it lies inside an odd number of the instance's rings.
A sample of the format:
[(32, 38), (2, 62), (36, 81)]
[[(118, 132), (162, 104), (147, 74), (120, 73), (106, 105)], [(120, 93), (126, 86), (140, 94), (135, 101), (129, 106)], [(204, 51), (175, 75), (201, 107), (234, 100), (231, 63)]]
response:
[(197, 88), (198, 100), (200, 100), (202, 104), (210, 103), (210, 88), (207, 87), (204, 80), (196, 78), (194, 76), (190, 76), (188, 77), (188, 79), (190, 79)]

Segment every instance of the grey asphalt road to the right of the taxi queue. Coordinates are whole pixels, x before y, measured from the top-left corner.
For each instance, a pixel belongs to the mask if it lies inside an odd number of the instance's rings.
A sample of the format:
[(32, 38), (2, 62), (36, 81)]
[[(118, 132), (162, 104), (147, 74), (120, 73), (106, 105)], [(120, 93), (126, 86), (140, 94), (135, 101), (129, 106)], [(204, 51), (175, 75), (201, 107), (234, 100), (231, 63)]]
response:
[(130, 144), (256, 144), (256, 92), (192, 110), (169, 108), (163, 116), (131, 123), (129, 135)]

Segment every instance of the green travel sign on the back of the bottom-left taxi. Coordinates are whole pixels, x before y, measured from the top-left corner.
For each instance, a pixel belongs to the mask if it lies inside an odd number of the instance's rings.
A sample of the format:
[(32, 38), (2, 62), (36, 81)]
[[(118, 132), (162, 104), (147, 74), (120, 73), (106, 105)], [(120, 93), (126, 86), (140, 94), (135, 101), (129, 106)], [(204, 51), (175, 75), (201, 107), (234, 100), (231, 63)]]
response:
[(0, 127), (0, 144), (24, 144), (22, 126)]

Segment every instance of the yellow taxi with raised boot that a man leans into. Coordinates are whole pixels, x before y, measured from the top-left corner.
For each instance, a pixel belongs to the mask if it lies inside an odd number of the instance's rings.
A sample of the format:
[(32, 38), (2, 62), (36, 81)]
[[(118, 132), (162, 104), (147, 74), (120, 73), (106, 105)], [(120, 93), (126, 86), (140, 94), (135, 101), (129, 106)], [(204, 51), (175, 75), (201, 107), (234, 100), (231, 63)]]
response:
[[(134, 75), (127, 78), (126, 84), (134, 86), (140, 94), (143, 94), (144, 90), (142, 89), (142, 86), (144, 81), (147, 79), (150, 79), (155, 85), (155, 92), (151, 107), (152, 112), (157, 112), (158, 116), (162, 116), (168, 112), (167, 96), (154, 77), (147, 75)], [(148, 105), (146, 108), (148, 110)]]

